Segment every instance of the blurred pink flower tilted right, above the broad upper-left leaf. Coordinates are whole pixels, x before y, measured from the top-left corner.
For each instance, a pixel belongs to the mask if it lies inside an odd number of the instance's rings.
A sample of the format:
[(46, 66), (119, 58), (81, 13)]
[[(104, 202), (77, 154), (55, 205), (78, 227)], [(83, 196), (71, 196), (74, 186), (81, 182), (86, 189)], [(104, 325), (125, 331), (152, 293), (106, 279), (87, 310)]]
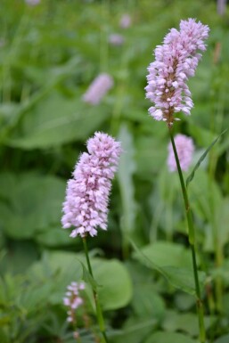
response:
[(83, 95), (83, 101), (91, 105), (98, 105), (113, 85), (113, 78), (109, 74), (100, 74), (97, 78), (94, 78), (94, 81), (86, 90), (86, 93)]

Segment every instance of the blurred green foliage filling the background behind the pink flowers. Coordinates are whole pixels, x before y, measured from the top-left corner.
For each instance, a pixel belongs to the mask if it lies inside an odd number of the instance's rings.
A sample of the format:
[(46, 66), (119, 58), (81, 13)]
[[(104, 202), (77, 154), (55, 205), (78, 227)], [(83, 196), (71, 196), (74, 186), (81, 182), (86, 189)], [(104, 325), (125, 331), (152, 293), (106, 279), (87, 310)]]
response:
[[(124, 13), (132, 20), (127, 29), (119, 26)], [(152, 50), (187, 18), (210, 28), (189, 82), (192, 116), (176, 123), (176, 132), (194, 140), (194, 164), (229, 127), (228, 9), (220, 16), (213, 0), (1, 0), (1, 343), (74, 342), (62, 298), (82, 279), (83, 249), (61, 229), (61, 203), (78, 154), (97, 130), (118, 137), (125, 151), (109, 230), (88, 240), (110, 342), (198, 341), (184, 205), (166, 163), (168, 130), (148, 116), (143, 89)], [(122, 45), (110, 44), (113, 33)], [(97, 106), (82, 102), (101, 72), (114, 78), (113, 88)], [(190, 185), (214, 343), (229, 340), (228, 146), (227, 133)], [(86, 308), (96, 331), (90, 300)], [(78, 326), (83, 343), (94, 341), (80, 314)]]

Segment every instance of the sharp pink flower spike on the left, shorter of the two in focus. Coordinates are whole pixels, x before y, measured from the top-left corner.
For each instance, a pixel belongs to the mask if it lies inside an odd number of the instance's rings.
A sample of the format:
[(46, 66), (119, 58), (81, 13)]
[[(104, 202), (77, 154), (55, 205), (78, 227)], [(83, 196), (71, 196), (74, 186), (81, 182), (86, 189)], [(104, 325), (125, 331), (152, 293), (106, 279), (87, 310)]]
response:
[(84, 152), (67, 186), (63, 203), (63, 228), (74, 226), (70, 237), (97, 234), (107, 229), (111, 179), (117, 170), (121, 146), (110, 135), (96, 132), (87, 141)]

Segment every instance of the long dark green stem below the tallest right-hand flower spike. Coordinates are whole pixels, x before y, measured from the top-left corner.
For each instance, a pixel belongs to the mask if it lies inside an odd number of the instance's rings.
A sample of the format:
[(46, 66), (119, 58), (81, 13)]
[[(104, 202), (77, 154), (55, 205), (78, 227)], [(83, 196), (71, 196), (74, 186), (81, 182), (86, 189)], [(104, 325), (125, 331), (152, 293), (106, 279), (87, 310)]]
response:
[(168, 132), (170, 135), (170, 140), (173, 146), (173, 151), (176, 159), (176, 167), (180, 179), (180, 184), (182, 188), (183, 193), (183, 199), (184, 199), (184, 207), (185, 207), (185, 213), (188, 223), (188, 238), (189, 238), (189, 244), (192, 251), (192, 266), (193, 266), (193, 274), (194, 274), (194, 280), (195, 280), (195, 289), (196, 289), (196, 305), (197, 305), (197, 312), (199, 317), (199, 328), (200, 328), (200, 342), (205, 343), (206, 341), (206, 331), (204, 326), (204, 310), (203, 310), (203, 303), (201, 300), (200, 295), (200, 282), (199, 282), (199, 276), (198, 276), (198, 269), (197, 269), (197, 263), (196, 263), (196, 251), (195, 251), (195, 233), (194, 233), (194, 227), (193, 227), (193, 221), (192, 221), (192, 211), (188, 199), (188, 193), (186, 186), (184, 184), (184, 177), (181, 170), (180, 162), (178, 159), (178, 154), (176, 151), (176, 144), (173, 137), (172, 127), (168, 126)]

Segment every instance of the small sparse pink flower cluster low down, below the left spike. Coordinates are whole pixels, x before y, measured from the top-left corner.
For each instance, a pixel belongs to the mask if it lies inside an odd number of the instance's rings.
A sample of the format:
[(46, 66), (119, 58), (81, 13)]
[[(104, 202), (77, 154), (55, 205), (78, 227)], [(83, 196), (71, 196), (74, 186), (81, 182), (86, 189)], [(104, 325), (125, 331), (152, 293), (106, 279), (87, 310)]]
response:
[(84, 282), (71, 282), (63, 298), (63, 305), (68, 307), (67, 321), (70, 323), (76, 322), (75, 310), (84, 303), (83, 298), (79, 294), (80, 290), (85, 290)]

